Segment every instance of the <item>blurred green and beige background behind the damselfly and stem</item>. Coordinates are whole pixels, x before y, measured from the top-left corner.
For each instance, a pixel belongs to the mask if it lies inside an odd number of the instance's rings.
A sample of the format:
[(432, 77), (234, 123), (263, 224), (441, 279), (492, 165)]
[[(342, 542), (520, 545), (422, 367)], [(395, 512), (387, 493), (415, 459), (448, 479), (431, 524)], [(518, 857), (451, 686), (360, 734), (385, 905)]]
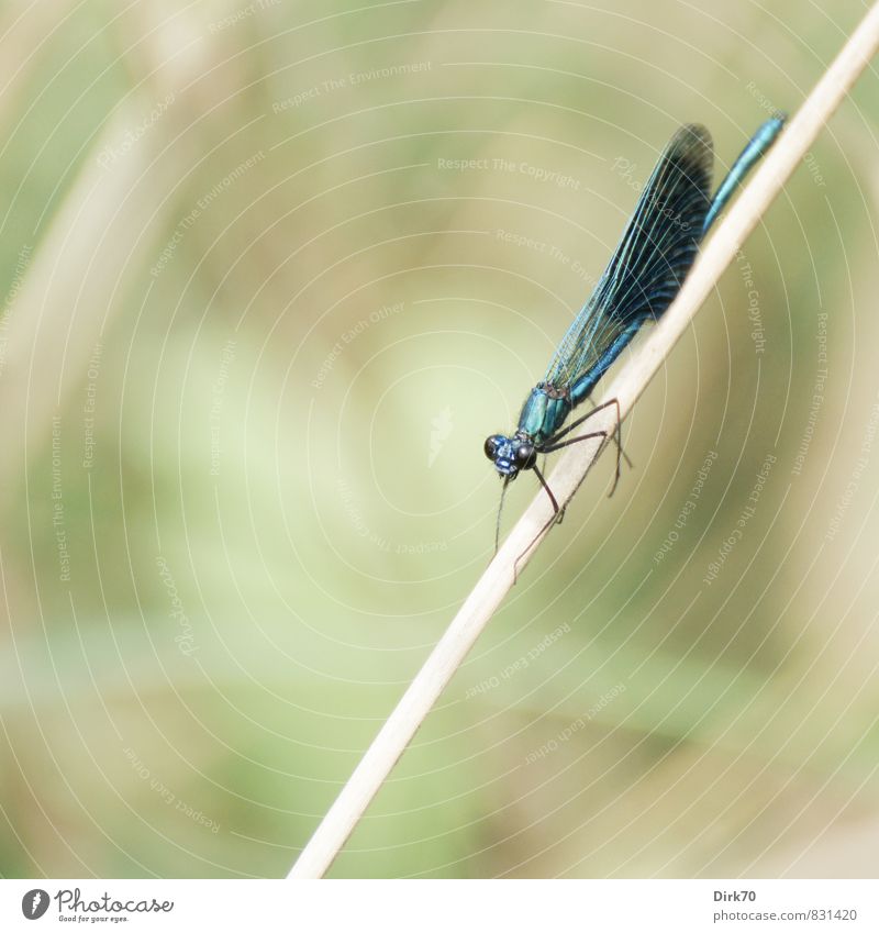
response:
[[(0, 871), (283, 875), (667, 138), (720, 174), (864, 11), (4, 3)], [(875, 874), (878, 108), (867, 71), (332, 874)]]

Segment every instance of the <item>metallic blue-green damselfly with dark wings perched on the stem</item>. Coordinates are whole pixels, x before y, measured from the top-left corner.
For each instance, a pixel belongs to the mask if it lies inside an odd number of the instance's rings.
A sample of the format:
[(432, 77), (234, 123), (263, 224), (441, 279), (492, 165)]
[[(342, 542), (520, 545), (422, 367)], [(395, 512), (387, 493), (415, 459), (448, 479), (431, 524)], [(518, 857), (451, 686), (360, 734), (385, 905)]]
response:
[[(620, 403), (611, 399), (563, 427), (574, 409), (589, 398), (596, 384), (646, 321), (657, 320), (671, 304), (696, 260), (699, 244), (736, 186), (769, 149), (785, 122), (776, 114), (763, 123), (711, 197), (714, 160), (711, 134), (699, 124), (681, 126), (666, 146), (638, 198), (635, 212), (594, 291), (571, 323), (543, 380), (525, 399), (513, 434), (486, 438), (486, 456), (503, 479), (496, 548), (500, 540), (503, 493), (522, 470), (534, 470), (553, 503), (553, 490), (537, 467), (538, 454), (552, 454), (590, 437), (608, 440), (607, 431), (571, 433), (599, 411), (616, 406), (615, 441), (620, 446)], [(616, 480), (620, 456), (616, 458)], [(613, 491), (613, 490), (611, 490)]]

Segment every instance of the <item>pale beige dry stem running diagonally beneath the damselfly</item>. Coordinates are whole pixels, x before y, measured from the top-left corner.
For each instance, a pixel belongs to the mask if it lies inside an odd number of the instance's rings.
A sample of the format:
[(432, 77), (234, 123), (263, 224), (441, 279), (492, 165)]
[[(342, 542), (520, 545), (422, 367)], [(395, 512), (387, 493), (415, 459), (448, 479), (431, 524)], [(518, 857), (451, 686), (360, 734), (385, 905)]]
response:
[[(735, 257), (745, 237), (757, 225), (877, 48), (879, 2), (872, 5), (766, 156), (750, 184), (708, 242), (680, 293), (649, 338), (633, 354), (608, 388), (604, 398), (619, 400), (621, 419), (631, 411), (723, 270)], [(599, 426), (604, 426), (610, 434), (616, 421), (615, 412), (613, 419), (604, 420), (608, 423)], [(596, 438), (592, 443), (570, 447), (559, 458), (549, 484), (563, 506), (583, 481), (600, 448), (601, 438)], [(320, 878), (332, 865), (418, 727), (512, 587), (516, 566), (521, 570), (545, 537), (552, 525), (550, 508), (547, 497), (541, 490), (379, 731), (288, 877)], [(526, 548), (530, 548), (528, 553), (523, 555)]]

